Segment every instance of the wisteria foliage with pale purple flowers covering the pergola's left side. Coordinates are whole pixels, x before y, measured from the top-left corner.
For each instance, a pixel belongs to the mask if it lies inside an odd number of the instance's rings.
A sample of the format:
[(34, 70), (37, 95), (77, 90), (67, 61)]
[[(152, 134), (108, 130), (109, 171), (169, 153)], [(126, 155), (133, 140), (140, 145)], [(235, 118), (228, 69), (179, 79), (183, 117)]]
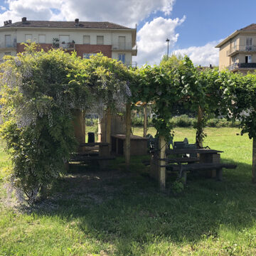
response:
[(129, 72), (100, 54), (81, 60), (62, 50), (36, 51), (33, 43), (0, 68), (1, 137), (13, 162), (9, 182), (33, 203), (77, 149), (73, 110), (122, 109), (131, 96)]

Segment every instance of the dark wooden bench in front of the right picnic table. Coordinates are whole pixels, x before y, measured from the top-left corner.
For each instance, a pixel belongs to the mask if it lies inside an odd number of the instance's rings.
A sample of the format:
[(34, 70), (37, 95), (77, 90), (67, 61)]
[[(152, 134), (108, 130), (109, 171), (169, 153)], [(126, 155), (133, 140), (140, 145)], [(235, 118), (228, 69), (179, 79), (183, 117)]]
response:
[(223, 168), (225, 169), (235, 169), (237, 165), (235, 164), (222, 164), (222, 163), (200, 163), (200, 164), (169, 164), (166, 165), (166, 171), (179, 171), (180, 177), (184, 179), (186, 183), (186, 172), (187, 171), (201, 171), (201, 170), (216, 170), (216, 180), (223, 180)]

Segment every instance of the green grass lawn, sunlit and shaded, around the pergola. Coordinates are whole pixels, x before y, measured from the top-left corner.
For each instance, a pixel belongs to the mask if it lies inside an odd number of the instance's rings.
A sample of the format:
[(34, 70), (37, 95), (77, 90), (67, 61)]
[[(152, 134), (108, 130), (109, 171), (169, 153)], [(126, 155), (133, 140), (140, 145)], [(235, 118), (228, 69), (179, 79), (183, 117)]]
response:
[[(71, 169), (35, 208), (7, 203), (10, 162), (1, 149), (0, 255), (256, 255), (252, 142), (235, 128), (206, 132), (204, 146), (238, 164), (224, 169), (223, 182), (188, 174), (183, 193), (173, 196), (158, 190), (142, 158), (132, 157), (130, 172), (118, 158), (110, 171)], [(193, 129), (175, 134), (174, 141), (195, 141)]]

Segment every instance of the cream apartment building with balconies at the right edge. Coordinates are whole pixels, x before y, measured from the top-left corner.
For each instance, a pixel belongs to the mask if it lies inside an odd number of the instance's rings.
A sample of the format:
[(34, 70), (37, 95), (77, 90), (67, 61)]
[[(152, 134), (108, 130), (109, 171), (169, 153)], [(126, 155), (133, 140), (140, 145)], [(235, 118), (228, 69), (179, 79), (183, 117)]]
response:
[(220, 48), (219, 68), (247, 73), (256, 70), (256, 24), (241, 28), (215, 46)]

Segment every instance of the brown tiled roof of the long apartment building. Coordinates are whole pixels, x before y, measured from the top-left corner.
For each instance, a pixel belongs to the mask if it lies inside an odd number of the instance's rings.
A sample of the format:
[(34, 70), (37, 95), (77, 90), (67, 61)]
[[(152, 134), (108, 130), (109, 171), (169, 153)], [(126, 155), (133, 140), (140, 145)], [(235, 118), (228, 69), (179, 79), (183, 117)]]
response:
[(107, 21), (79, 21), (79, 25), (75, 26), (74, 21), (25, 21), (9, 23), (0, 28), (112, 28), (112, 29), (131, 29), (126, 26), (121, 26), (116, 23)]

